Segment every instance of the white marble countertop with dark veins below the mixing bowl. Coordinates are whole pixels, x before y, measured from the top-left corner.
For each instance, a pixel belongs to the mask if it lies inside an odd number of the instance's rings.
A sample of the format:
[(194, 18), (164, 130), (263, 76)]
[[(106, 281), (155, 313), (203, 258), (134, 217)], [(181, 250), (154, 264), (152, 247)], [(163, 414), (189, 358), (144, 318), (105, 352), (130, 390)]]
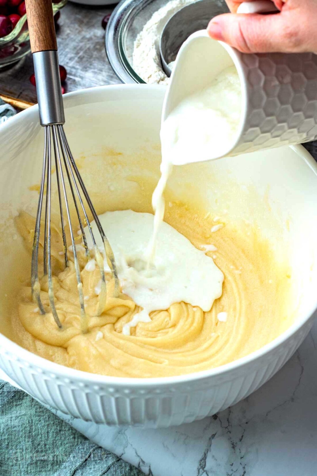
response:
[(217, 416), (143, 430), (96, 425), (52, 411), (151, 476), (315, 476), (316, 368), (317, 321), (268, 383)]

